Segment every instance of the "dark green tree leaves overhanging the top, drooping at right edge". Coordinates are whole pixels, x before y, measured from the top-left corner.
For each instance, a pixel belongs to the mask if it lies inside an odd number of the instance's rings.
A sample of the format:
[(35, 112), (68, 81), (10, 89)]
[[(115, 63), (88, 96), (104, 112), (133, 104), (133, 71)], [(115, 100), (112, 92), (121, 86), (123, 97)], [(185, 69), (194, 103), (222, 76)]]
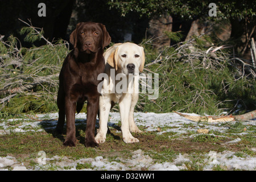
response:
[[(119, 9), (123, 16), (130, 11), (138, 12), (141, 16), (154, 17), (170, 14), (174, 19), (179, 18), (187, 21), (196, 20), (203, 16), (208, 19), (219, 20), (229, 19), (232, 24), (230, 38), (236, 39), (236, 48), (243, 55), (250, 39), (255, 36), (256, 3), (254, 1), (216, 1), (217, 16), (208, 16), (209, 4), (212, 0), (206, 1), (185, 1), (185, 0), (131, 0), (131, 1), (109, 1), (112, 8)], [(175, 20), (174, 20), (175, 21)]]

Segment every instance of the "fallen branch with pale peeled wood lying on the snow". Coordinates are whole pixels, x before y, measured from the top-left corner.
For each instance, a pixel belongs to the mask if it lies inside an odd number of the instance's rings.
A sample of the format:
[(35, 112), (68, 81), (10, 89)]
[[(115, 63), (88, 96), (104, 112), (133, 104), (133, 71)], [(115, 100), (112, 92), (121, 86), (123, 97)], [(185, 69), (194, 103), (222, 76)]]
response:
[(193, 116), (193, 115), (186, 115), (186, 114), (181, 114), (176, 111), (174, 111), (176, 114), (181, 115), (182, 117), (185, 117), (191, 121), (205, 121), (205, 122), (227, 122), (227, 121), (247, 121), (250, 119), (256, 118), (256, 110), (250, 111), (249, 113), (246, 114), (241, 114), (241, 115), (221, 115), (221, 116)]

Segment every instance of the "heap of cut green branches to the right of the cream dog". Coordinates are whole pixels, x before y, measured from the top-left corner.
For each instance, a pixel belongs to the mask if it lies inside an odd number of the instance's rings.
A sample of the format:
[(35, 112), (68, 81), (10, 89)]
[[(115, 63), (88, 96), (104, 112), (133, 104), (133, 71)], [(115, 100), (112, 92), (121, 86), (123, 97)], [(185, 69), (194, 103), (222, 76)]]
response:
[(228, 50), (207, 53), (209, 40), (202, 36), (195, 38), (192, 47), (166, 47), (159, 56), (144, 44), (146, 64), (162, 57), (161, 62), (145, 67), (159, 74), (159, 97), (148, 100), (141, 94), (137, 110), (218, 114), (256, 109), (255, 77), (242, 75), (244, 70), (237, 69)]

